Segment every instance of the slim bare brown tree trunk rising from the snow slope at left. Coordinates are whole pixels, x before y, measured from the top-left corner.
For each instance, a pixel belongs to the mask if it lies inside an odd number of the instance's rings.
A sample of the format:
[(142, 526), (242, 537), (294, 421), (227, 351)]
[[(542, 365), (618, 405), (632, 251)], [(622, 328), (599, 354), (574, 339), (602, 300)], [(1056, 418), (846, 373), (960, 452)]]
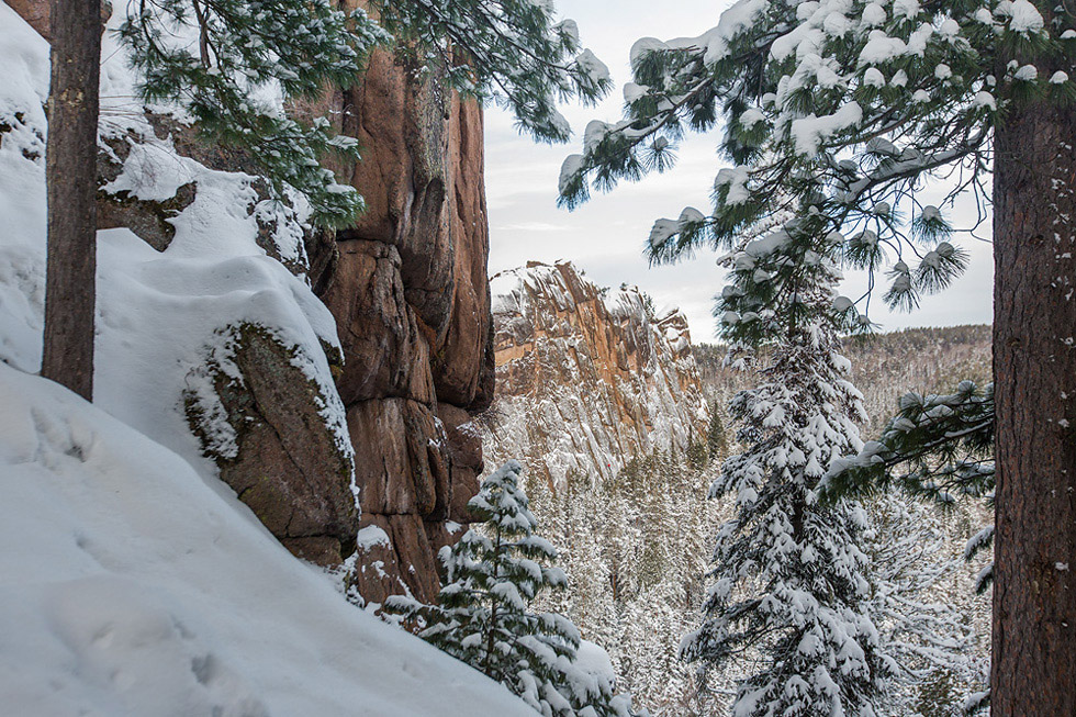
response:
[(100, 0), (51, 0), (48, 258), (41, 374), (93, 396)]

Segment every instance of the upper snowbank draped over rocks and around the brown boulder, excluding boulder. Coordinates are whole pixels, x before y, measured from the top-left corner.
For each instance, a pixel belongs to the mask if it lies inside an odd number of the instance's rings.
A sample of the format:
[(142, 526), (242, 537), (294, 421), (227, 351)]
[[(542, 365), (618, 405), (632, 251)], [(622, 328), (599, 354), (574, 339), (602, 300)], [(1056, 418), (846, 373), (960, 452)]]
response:
[[(110, 27), (120, 20), (116, 13)], [(115, 157), (120, 171), (102, 191), (152, 202), (176, 197), (184, 184), (197, 190), (192, 202), (166, 220), (175, 236), (164, 251), (126, 228), (99, 233), (94, 401), (197, 460), (201, 449), (177, 407), (190, 390), (214, 401), (198, 369), (226, 343), (225, 327), (254, 322), (298, 349), (296, 361), (332, 404), (325, 407), (326, 422), (347, 442), (344, 408), (322, 350), (323, 344), (339, 344), (333, 316), (302, 278), (258, 244), (259, 231), (271, 226), (276, 251), (302, 262), (303, 209), (259, 199), (258, 178), (209, 169), (181, 156), (170, 136), (157, 137), (130, 99), (134, 78), (124, 54), (111, 32), (104, 37), (100, 146), (114, 154), (122, 143), (130, 154)], [(44, 312), (48, 43), (3, 3), (0, 60), (0, 360), (36, 371)], [(223, 422), (216, 427), (226, 444), (228, 427)]]

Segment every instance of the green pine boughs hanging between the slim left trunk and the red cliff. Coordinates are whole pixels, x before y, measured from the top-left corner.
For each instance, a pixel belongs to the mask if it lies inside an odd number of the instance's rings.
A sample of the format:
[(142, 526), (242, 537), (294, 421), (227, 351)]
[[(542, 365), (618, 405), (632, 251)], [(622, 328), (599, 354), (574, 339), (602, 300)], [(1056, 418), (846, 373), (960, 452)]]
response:
[(208, 139), (244, 150), (278, 199), (294, 190), (312, 221), (343, 226), (362, 210), (351, 187), (318, 164), (328, 152), (358, 159), (352, 137), (325, 117), (306, 126), (274, 103), (356, 82), (388, 34), (365, 12), (329, 0), (142, 0), (120, 26), (143, 99), (178, 104)]

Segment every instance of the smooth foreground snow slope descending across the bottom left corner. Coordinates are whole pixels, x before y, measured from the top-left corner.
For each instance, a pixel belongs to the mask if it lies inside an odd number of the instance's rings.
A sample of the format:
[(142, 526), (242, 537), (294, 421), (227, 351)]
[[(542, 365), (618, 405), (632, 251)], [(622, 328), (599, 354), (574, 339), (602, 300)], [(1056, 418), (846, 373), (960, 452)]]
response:
[(179, 456), (0, 363), (7, 715), (525, 715), (351, 606)]

